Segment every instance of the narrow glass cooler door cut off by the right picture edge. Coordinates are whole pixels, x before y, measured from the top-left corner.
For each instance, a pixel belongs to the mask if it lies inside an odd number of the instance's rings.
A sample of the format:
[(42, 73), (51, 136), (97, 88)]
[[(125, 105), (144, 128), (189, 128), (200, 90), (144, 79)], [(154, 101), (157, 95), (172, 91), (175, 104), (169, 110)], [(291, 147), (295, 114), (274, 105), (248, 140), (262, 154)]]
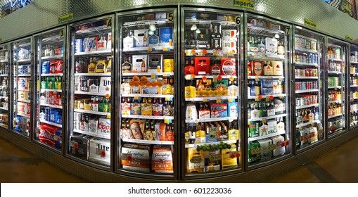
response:
[(350, 44), (350, 128), (358, 125), (358, 46)]

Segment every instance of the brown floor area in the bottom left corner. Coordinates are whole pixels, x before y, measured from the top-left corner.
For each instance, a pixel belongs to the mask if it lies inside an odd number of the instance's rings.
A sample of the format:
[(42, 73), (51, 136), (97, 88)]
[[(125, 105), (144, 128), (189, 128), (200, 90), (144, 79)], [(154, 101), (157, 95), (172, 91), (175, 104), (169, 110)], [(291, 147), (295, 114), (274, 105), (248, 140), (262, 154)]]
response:
[(0, 137), (0, 182), (80, 183), (86, 181), (60, 170)]

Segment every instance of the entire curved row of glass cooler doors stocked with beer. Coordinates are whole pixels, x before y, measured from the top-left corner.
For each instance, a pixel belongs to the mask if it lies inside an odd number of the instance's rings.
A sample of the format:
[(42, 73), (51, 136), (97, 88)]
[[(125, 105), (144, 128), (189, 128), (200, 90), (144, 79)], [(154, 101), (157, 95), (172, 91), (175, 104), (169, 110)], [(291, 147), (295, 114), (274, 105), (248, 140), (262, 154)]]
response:
[(0, 126), (132, 176), (242, 172), (357, 125), (357, 51), (230, 11), (93, 18), (0, 46)]

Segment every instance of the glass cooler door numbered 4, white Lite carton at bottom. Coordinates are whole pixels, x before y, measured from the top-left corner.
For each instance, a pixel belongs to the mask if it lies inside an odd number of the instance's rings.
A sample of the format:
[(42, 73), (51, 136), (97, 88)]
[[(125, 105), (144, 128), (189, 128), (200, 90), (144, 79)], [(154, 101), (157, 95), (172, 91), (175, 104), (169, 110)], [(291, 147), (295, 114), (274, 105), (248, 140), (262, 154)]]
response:
[(70, 25), (68, 154), (111, 165), (113, 18)]

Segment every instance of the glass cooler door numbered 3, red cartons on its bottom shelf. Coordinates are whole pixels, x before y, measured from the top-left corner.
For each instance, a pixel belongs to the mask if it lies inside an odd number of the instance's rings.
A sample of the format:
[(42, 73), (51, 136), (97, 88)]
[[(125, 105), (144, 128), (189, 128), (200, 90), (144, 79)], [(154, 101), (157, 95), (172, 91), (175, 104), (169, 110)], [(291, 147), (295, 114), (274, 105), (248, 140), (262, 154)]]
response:
[(65, 30), (60, 28), (34, 37), (37, 89), (34, 140), (62, 150), (63, 61)]

